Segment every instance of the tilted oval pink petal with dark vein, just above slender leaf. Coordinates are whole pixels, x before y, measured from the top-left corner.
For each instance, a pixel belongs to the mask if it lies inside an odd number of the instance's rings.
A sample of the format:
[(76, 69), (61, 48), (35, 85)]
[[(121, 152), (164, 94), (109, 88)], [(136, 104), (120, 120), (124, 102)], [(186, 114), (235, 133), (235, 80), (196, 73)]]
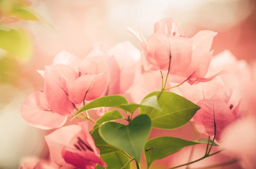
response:
[(69, 99), (75, 104), (80, 104), (83, 100), (96, 99), (105, 93), (108, 84), (107, 73), (82, 75), (71, 84)]

